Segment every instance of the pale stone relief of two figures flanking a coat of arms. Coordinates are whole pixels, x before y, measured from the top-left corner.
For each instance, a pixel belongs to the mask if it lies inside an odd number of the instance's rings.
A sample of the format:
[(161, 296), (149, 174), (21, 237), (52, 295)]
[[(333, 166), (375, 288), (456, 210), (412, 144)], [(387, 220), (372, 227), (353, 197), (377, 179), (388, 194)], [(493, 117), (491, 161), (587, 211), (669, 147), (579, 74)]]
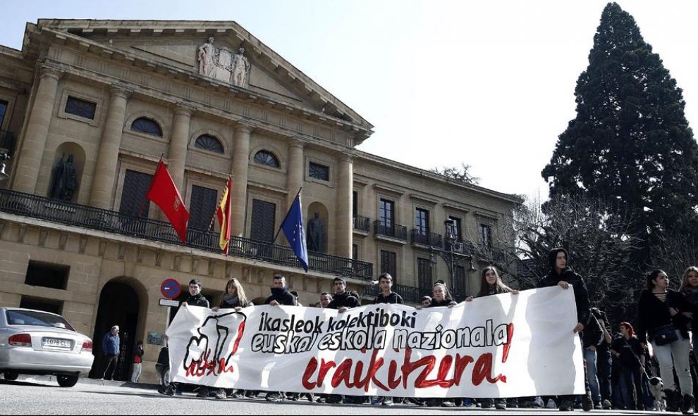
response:
[(214, 38), (199, 46), (199, 73), (207, 77), (230, 82), (236, 87), (245, 87), (250, 61), (245, 57), (245, 48), (233, 53), (226, 46), (214, 46)]

